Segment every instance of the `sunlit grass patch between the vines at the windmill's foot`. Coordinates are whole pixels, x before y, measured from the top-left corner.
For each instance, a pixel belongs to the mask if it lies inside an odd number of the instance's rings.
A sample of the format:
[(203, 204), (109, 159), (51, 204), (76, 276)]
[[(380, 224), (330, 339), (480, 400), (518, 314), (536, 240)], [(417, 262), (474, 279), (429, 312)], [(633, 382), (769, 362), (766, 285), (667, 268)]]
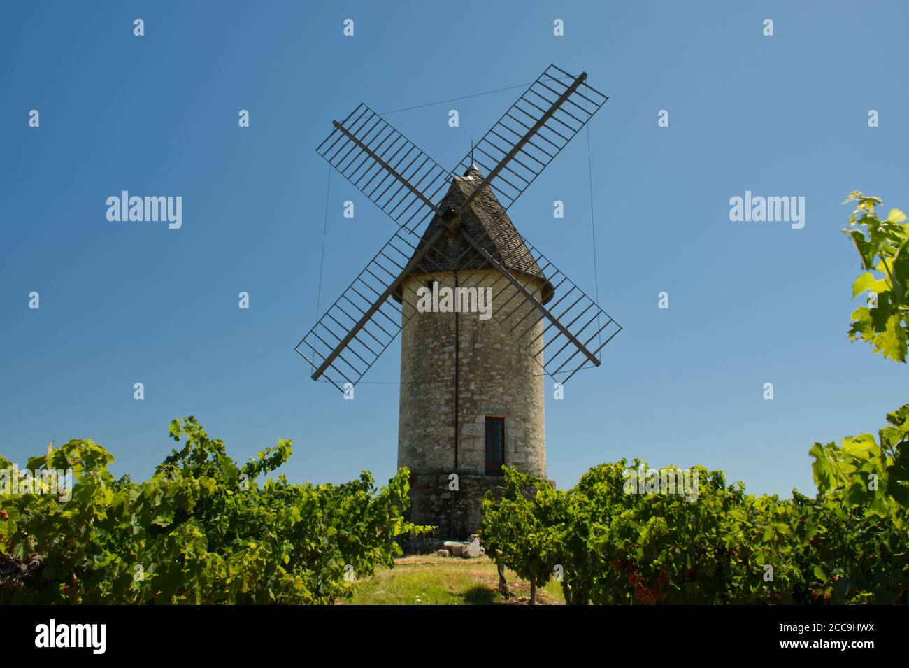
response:
[[(395, 568), (375, 573), (357, 583), (352, 605), (494, 605), (526, 604), (530, 583), (505, 570), (511, 595), (498, 591), (499, 575), (488, 557), (408, 556)], [(537, 587), (538, 605), (563, 605), (562, 585), (550, 580)]]

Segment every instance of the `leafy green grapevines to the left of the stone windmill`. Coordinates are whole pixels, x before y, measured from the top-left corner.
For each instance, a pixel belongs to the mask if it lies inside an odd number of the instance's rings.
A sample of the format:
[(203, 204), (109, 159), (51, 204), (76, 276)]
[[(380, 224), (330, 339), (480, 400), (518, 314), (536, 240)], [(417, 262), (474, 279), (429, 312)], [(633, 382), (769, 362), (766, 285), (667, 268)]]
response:
[(39, 477), (0, 495), (0, 603), (334, 603), (394, 564), (397, 536), (420, 532), (402, 516), (406, 470), (379, 490), (367, 473), (260, 484), (289, 441), (238, 465), (193, 417), (170, 434), (185, 445), (143, 484), (115, 480), (92, 441), (30, 459), (30, 471), (72, 469), (75, 484), (68, 499)]

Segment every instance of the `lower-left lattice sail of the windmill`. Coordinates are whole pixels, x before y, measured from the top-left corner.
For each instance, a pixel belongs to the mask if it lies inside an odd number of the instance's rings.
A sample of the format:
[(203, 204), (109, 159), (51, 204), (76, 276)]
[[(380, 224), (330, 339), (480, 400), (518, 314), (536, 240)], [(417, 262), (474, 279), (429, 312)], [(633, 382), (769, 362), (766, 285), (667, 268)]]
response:
[(296, 344), (296, 352), (314, 367), (313, 380), (324, 376), (343, 391), (345, 384), (353, 386), (363, 378), (409, 319), (389, 297), (418, 264), (435, 264), (435, 245), (442, 234), (445, 229), (422, 239), (401, 227), (366, 264)]

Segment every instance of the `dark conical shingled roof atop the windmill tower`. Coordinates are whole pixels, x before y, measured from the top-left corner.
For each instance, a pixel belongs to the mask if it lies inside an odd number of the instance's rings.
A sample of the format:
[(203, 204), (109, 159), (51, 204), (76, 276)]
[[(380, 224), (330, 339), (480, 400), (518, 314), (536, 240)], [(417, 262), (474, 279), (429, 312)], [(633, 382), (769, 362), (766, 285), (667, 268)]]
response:
[[(446, 211), (449, 208), (457, 209), (464, 204), (467, 197), (474, 192), (479, 184), (483, 183), (484, 176), (476, 165), (471, 165), (470, 169), (464, 172), (462, 176), (455, 176), (452, 179), (451, 187), (448, 193), (439, 203), (439, 208)], [(524, 240), (517, 230), (508, 214), (505, 212), (502, 204), (496, 199), (492, 188), (486, 185), (483, 190), (474, 197), (474, 200), (461, 214), (461, 224), (464, 230), (470, 234), (481, 246), (486, 253), (492, 255), (499, 264), (502, 264), (512, 274), (519, 273), (539, 278), (543, 283), (543, 299), (545, 304), (554, 293), (552, 284), (544, 276), (538, 264), (534, 260)], [(445, 222), (438, 215), (433, 216), (429, 226), (426, 227), (420, 243), (417, 244), (417, 250), (422, 248), (440, 228), (445, 227)], [(415, 273), (431, 274), (435, 272), (453, 272), (463, 271), (465, 269), (482, 269), (490, 266), (489, 262), (483, 255), (476, 252), (471, 244), (468, 244), (460, 234), (443, 234), (436, 242), (435, 247), (431, 250), (419, 264), (416, 265)], [(517, 276), (520, 280), (520, 276)], [(524, 283), (524, 281), (522, 281)], [(395, 294), (398, 301), (401, 301), (400, 291)]]

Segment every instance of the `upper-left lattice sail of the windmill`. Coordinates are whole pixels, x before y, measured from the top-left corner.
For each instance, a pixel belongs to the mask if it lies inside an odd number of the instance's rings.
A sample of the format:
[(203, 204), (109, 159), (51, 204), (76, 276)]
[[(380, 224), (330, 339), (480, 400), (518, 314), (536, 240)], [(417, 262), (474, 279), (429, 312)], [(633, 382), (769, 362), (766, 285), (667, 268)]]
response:
[(441, 212), (435, 199), (449, 173), (366, 105), (315, 149), (399, 226), (415, 231)]

